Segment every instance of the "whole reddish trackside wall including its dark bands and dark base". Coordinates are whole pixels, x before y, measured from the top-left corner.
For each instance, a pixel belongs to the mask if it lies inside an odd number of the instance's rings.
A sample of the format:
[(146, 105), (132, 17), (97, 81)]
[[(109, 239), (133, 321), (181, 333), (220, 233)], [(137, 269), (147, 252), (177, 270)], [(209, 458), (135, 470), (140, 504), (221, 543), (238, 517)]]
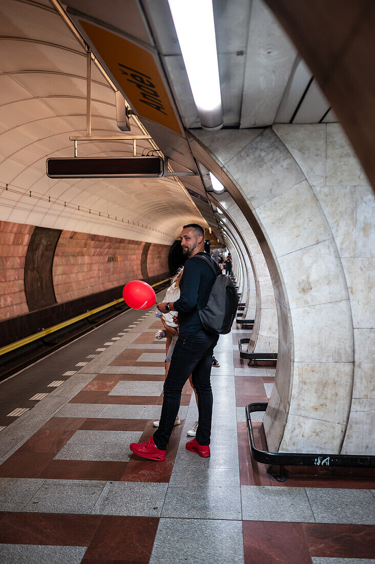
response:
[(0, 222), (2, 345), (170, 275), (169, 245)]

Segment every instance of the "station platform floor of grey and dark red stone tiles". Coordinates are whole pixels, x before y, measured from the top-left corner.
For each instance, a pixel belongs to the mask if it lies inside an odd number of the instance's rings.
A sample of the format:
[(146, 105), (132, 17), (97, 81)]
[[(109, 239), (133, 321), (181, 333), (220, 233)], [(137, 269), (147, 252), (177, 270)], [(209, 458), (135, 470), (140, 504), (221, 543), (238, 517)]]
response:
[(240, 360), (245, 332), (215, 349), (210, 459), (185, 448), (189, 384), (166, 461), (132, 455), (161, 411), (158, 328), (125, 312), (0, 384), (0, 562), (375, 562), (373, 481), (278, 482), (251, 459), (245, 406), (267, 401), (275, 371)]

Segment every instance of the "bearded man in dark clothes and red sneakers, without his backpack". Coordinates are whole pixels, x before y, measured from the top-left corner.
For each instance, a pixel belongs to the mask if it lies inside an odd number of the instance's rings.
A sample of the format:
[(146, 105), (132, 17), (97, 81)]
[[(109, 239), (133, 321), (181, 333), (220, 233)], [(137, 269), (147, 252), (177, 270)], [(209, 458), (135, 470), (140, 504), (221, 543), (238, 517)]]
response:
[(216, 261), (204, 252), (204, 228), (198, 223), (184, 225), (181, 232), (182, 252), (188, 257), (180, 280), (180, 298), (174, 303), (159, 303), (158, 310), (166, 313), (178, 311), (179, 336), (175, 344), (169, 372), (164, 382), (164, 399), (158, 429), (153, 438), (144, 443), (131, 443), (130, 450), (136, 455), (151, 460), (165, 460), (165, 451), (178, 414), (181, 392), (189, 374), (198, 396), (198, 428), (196, 437), (186, 443), (189, 451), (210, 456), (210, 435), (213, 395), (210, 375), (213, 350), (218, 335), (208, 333), (201, 324), (198, 308), (203, 309), (215, 281), (214, 272), (203, 255), (214, 266)]

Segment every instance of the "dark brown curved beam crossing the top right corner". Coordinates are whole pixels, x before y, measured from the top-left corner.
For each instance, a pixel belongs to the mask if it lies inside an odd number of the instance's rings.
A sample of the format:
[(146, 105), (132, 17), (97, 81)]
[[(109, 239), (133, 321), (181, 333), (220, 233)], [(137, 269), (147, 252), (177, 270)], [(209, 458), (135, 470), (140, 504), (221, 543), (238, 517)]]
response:
[(375, 2), (265, 1), (319, 82), (375, 188)]

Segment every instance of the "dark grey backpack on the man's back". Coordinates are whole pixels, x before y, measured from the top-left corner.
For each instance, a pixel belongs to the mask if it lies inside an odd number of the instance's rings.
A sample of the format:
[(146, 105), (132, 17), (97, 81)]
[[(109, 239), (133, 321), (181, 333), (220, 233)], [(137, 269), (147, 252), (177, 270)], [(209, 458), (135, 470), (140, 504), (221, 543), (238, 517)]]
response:
[(203, 259), (216, 276), (206, 307), (198, 308), (201, 324), (209, 333), (230, 333), (239, 305), (237, 290), (229, 276), (217, 273), (210, 259), (201, 254), (196, 257)]

